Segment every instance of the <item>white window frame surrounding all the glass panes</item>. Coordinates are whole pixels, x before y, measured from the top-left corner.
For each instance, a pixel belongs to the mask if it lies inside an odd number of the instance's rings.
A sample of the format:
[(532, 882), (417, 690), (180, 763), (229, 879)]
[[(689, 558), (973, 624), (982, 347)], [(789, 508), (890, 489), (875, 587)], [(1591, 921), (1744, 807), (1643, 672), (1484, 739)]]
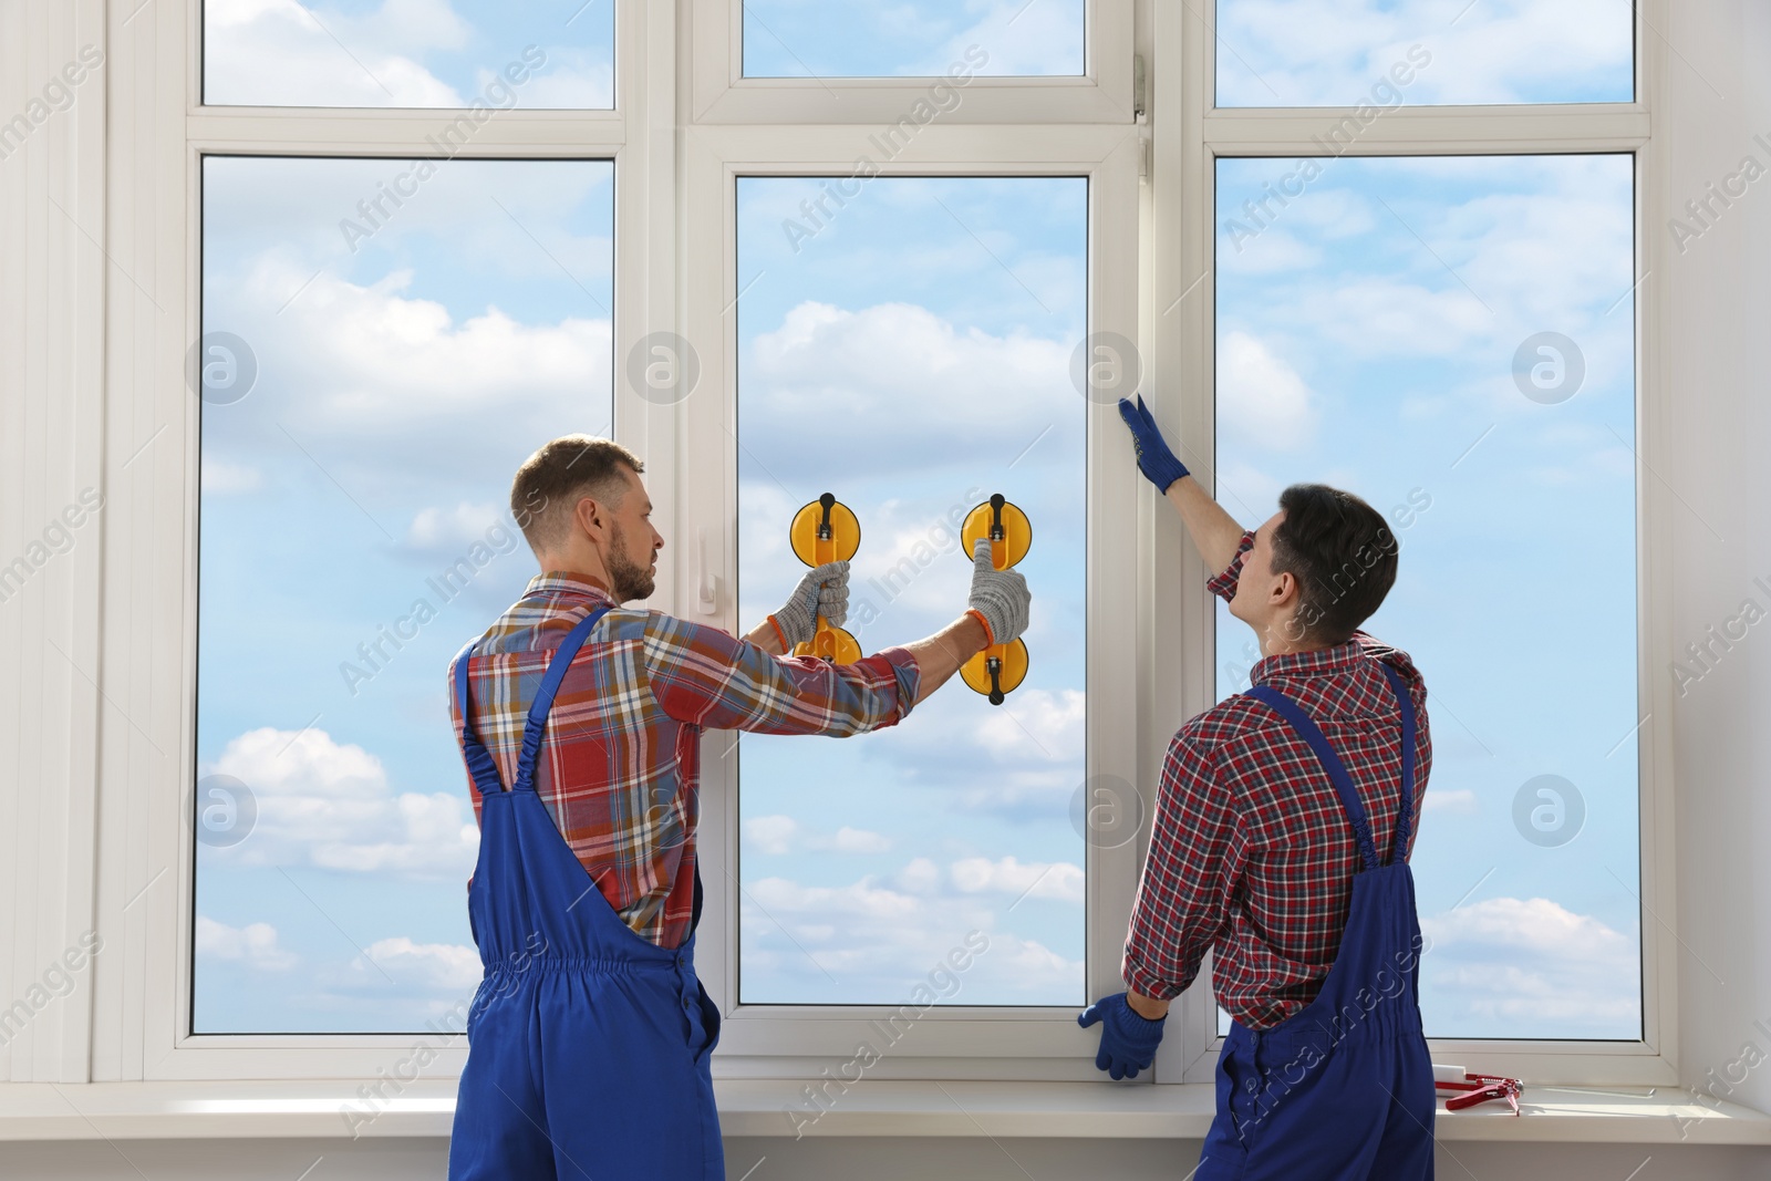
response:
[[(691, 0), (684, 11), (694, 27), (680, 28), (677, 5), (616, 0), (613, 112), (507, 112), (460, 152), (615, 159), (615, 432), (655, 473), (648, 487), (657, 517), (673, 529), (653, 602), (733, 629), (753, 623), (733, 618), (730, 593), (735, 457), (728, 427), (737, 340), (726, 312), (737, 296), (735, 177), (847, 174), (854, 127), (893, 122), (910, 92), (928, 85), (739, 78), (730, 37), (737, 4)], [(46, 855), (46, 882), (55, 885), (41, 887), (58, 912), (74, 915), (64, 926), (85, 926), (90, 917), (104, 954), (94, 960), (90, 1011), (62, 1006), (39, 1018), (11, 1048), (12, 1077), (372, 1078), (416, 1036), (193, 1036), (188, 1027), (195, 857), (182, 811), (195, 772), (198, 402), (184, 388), (184, 354), (200, 335), (200, 159), (420, 154), (423, 135), (455, 113), (200, 106), (200, 0), (126, 9), (135, 5), (67, 5), (67, 19), (106, 55), (104, 110), (69, 112), (81, 127), (97, 131), (85, 140), (74, 172), (83, 197), (74, 211), (97, 207), (103, 257), (80, 255), (78, 273), (55, 280), (64, 283), (57, 290), (103, 292), (103, 340), (94, 340), (99, 333), (87, 319), (69, 336), (101, 343), (103, 398), (83, 411), (101, 428), (81, 441), (76, 467), (103, 478), (106, 508), (103, 549), (76, 560), (90, 563), (99, 579), (97, 602), (76, 604), (92, 623), (69, 637), (73, 655), (96, 678), (90, 701), (69, 714), (73, 740), (90, 735), (97, 745), (87, 770), (73, 768), (73, 795), (57, 804), (66, 811), (67, 848)], [(1089, 73), (1082, 80), (974, 78), (951, 119), (924, 127), (882, 172), (1087, 175), (1089, 331), (1144, 342), (1146, 398), (1190, 437), (1210, 439), (1210, 280), (1190, 299), (1174, 301), (1211, 266), (1213, 161), (1303, 152), (1311, 135), (1348, 112), (1213, 108), (1210, 4), (1089, 0), (1087, 12)], [(1670, 0), (1645, 0), (1638, 14), (1658, 28), (1667, 28), (1668, 18)], [(1142, 119), (1133, 113), (1133, 48), (1149, 64), (1149, 115)], [(1404, 108), (1371, 127), (1351, 152), (1633, 151), (1642, 274), (1665, 255), (1663, 239), (1647, 230), (1661, 223), (1667, 205), (1652, 138), (1652, 97), (1665, 67), (1665, 48), (1640, 34), (1633, 103)], [(839, 89), (841, 110), (800, 110), (808, 85)], [(689, 110), (678, 108), (684, 96)], [(854, 103), (847, 103), (850, 96)], [(1149, 154), (1146, 136), (1153, 136)], [(707, 262), (714, 257), (717, 267)], [(99, 278), (104, 274), (110, 282)], [(83, 315), (96, 320), (96, 312), (85, 308)], [(1659, 466), (1659, 425), (1670, 413), (1658, 365), (1667, 320), (1656, 287), (1645, 283), (1636, 297), (1636, 483), (1638, 675), (1649, 715), (1638, 733), (1647, 1036), (1642, 1043), (1436, 1039), (1440, 1059), (1574, 1084), (1677, 1082), (1677, 944), (1665, 926), (1675, 921), (1667, 673), (1674, 655), (1674, 505), (1647, 475)], [(627, 351), (655, 329), (682, 331), (701, 352), (701, 390), (675, 407), (645, 402), (622, 374)], [(707, 402), (723, 407), (721, 414), (701, 413)], [(1112, 409), (1091, 407), (1089, 416), (1087, 772), (1139, 784), (1148, 814), (1169, 737), (1215, 699), (1208, 572), (1156, 512), (1162, 506), (1135, 475)], [(691, 544), (703, 531), (712, 545)], [(1118, 570), (1137, 577), (1109, 575)], [(700, 611), (708, 577), (715, 588), (710, 614)], [(1179, 611), (1172, 607), (1176, 588)], [(273, 636), (275, 623), (267, 643)], [(723, 866), (737, 850), (737, 807), (730, 761), (717, 758), (726, 745), (721, 738), (714, 735), (703, 747), (708, 905), (700, 940), (701, 974), (728, 1013), (715, 1071), (815, 1077), (847, 1061), (857, 1023), (878, 1009), (808, 1013), (731, 1004), (737, 899)], [(1091, 995), (1119, 986), (1119, 947), (1139, 864), (1139, 848), (1089, 850)], [(23, 924), (9, 931), (19, 963), (37, 963), (44, 946), (60, 940)], [(1156, 1080), (1204, 1082), (1218, 1046), (1208, 990), (1195, 986), (1176, 1016)], [(916, 1030), (914, 1041), (894, 1046), (870, 1075), (1094, 1078), (1089, 1038), (1073, 1027), (1068, 1009), (937, 1009)], [(21, 1045), (30, 1050), (25, 1059)], [(429, 1073), (459, 1071), (462, 1061), (457, 1041)]]

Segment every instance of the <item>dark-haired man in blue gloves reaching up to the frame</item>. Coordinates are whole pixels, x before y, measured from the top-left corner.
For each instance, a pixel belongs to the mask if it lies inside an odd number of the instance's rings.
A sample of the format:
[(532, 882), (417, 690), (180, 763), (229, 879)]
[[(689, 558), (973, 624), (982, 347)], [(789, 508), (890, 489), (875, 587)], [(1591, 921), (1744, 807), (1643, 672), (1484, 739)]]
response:
[(1408, 869), (1431, 763), (1426, 685), (1360, 625), (1396, 581), (1378, 512), (1319, 483), (1241, 529), (1139, 398), (1137, 466), (1179, 512), (1213, 593), (1254, 629), (1252, 687), (1169, 744), (1125, 942), (1126, 992), (1079, 1018), (1135, 1078), (1211, 951), (1233, 1025), (1195, 1181), (1433, 1176), (1433, 1064)]

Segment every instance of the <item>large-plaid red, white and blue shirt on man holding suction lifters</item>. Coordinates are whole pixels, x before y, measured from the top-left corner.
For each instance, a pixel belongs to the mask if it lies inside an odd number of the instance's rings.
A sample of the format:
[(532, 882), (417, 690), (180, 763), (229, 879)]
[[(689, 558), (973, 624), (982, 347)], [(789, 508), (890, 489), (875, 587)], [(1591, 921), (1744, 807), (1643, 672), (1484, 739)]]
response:
[[(588, 575), (538, 574), (475, 650), (473, 721), (507, 788), (547, 662), (579, 620), (613, 602)], [(903, 719), (916, 689), (903, 648), (848, 666), (772, 657), (715, 627), (615, 606), (560, 683), (535, 790), (615, 914), (680, 947), (694, 907), (701, 729), (855, 735)], [(448, 701), (459, 745), (453, 664)], [(473, 776), (468, 791), (478, 818)]]

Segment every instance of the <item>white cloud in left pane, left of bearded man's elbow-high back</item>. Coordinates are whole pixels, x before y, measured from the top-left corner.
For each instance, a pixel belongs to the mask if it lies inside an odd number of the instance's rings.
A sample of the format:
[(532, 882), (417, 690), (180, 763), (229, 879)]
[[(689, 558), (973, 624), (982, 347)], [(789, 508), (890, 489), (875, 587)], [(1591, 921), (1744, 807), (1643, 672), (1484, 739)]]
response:
[(207, 857), (416, 878), (473, 873), (480, 832), (466, 799), (395, 793), (381, 760), (324, 729), (248, 729), (209, 772), (243, 781), (257, 820), (246, 839)]

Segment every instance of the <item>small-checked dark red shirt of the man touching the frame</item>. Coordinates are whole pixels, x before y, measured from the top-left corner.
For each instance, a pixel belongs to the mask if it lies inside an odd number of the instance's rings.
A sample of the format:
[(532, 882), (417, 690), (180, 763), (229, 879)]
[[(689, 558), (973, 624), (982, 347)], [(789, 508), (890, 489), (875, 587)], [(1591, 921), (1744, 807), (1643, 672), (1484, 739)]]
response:
[[(1234, 561), (1210, 583), (1215, 595), (1236, 597), (1252, 545), (1254, 533), (1243, 533)], [(1396, 668), (1415, 699), (1419, 816), (1433, 744), (1426, 683), (1408, 653), (1355, 632), (1334, 648), (1264, 657), (1249, 676), (1321, 726), (1365, 802), (1378, 857), (1387, 859), (1403, 790), (1401, 721), (1376, 660)], [(1309, 744), (1259, 701), (1240, 694), (1220, 701), (1169, 744), (1132, 905), (1125, 983), (1172, 999), (1194, 983), (1210, 947), (1217, 1002), (1249, 1029), (1277, 1025), (1321, 992), (1358, 868), (1353, 827)]]

